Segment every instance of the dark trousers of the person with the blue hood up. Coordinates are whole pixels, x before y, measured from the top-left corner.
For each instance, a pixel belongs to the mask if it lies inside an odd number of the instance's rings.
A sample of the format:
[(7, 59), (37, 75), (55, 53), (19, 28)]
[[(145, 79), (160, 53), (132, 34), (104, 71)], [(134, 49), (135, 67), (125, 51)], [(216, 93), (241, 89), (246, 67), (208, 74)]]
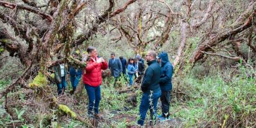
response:
[(162, 116), (164, 118), (169, 118), (169, 108), (170, 108), (170, 92), (171, 91), (162, 91), (161, 94), (161, 103), (162, 103)]

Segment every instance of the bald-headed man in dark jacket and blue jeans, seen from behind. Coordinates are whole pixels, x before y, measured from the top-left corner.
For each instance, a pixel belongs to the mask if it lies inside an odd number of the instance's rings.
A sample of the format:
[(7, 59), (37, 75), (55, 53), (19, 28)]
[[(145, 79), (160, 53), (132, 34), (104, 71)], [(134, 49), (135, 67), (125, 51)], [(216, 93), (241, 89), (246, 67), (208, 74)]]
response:
[(155, 51), (149, 51), (145, 56), (145, 60), (148, 62), (148, 68), (141, 83), (143, 95), (140, 103), (140, 119), (137, 122), (141, 126), (144, 125), (148, 109), (150, 109), (151, 120), (154, 120), (153, 116), (155, 118), (157, 117), (157, 102), (161, 96), (161, 89), (159, 86), (161, 67), (159, 63), (157, 63), (156, 57), (157, 54)]

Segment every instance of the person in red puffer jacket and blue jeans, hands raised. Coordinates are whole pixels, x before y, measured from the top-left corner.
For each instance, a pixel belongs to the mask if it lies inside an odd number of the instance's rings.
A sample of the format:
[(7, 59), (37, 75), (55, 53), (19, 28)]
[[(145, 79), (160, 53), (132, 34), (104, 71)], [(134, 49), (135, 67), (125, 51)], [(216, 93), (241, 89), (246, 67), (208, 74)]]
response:
[(101, 100), (101, 69), (106, 70), (108, 63), (103, 58), (98, 58), (97, 49), (94, 47), (87, 48), (91, 58), (87, 61), (86, 73), (83, 74), (84, 86), (86, 88), (89, 104), (88, 115), (99, 117), (99, 101)]

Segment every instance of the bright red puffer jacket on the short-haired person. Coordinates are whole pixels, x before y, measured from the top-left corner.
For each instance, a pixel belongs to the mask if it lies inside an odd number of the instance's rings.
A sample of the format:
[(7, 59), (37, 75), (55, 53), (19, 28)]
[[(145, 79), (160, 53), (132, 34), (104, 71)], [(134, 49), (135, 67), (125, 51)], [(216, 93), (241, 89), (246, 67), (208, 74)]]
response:
[[(99, 58), (96, 58), (96, 60)], [(91, 58), (90, 62), (87, 62), (86, 73), (83, 74), (84, 84), (89, 86), (98, 87), (102, 83), (101, 69), (106, 70), (108, 68), (108, 63), (102, 62), (97, 63)]]

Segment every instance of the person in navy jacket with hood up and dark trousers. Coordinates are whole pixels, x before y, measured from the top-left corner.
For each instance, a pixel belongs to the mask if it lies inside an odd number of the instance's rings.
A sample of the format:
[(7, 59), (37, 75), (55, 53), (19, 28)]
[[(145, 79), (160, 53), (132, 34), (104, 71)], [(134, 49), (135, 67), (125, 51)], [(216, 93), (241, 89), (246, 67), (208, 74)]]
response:
[(161, 64), (161, 77), (159, 80), (161, 88), (161, 102), (162, 102), (162, 115), (158, 116), (162, 119), (169, 118), (169, 106), (170, 106), (170, 93), (172, 91), (172, 74), (173, 66), (169, 62), (168, 54), (166, 52), (161, 52), (159, 55), (159, 62)]

